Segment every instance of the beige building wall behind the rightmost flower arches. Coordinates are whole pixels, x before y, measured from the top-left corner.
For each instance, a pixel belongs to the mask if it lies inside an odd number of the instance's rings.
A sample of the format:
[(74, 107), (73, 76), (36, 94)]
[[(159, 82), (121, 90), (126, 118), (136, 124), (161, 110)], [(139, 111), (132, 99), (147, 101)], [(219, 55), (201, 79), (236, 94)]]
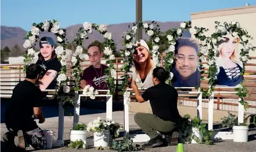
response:
[[(241, 27), (246, 28), (248, 35), (254, 38), (250, 42), (253, 46), (256, 46), (256, 5), (192, 13), (191, 20), (193, 27), (197, 26), (209, 29), (205, 33), (206, 36), (211, 36), (212, 32), (215, 31), (215, 21), (221, 23), (224, 21), (228, 23), (234, 20), (238, 21)], [(256, 56), (256, 52), (250, 52), (250, 56)], [(255, 63), (256, 61), (254, 60), (253, 62)]]

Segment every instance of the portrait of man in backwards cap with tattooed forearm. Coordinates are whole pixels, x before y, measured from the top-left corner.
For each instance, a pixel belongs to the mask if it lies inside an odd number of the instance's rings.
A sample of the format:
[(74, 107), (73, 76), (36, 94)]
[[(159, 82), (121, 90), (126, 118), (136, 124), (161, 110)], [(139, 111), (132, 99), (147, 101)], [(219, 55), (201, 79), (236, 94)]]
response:
[(57, 76), (62, 68), (62, 64), (57, 59), (55, 53), (56, 44), (51, 37), (42, 37), (39, 41), (40, 53), (38, 53), (37, 63), (44, 70), (45, 73), (42, 73), (39, 81), (40, 89), (55, 89), (57, 84)]

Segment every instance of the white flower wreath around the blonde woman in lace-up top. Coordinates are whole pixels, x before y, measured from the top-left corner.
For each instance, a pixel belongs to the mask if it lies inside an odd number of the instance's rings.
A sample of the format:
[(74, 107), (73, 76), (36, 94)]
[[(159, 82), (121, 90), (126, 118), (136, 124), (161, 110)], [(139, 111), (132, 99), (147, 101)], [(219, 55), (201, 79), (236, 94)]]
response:
[[(248, 32), (245, 28), (241, 28), (240, 24), (237, 21), (232, 21), (231, 23), (224, 22), (223, 25), (221, 25), (218, 21), (215, 21), (215, 32), (212, 34), (211, 38), (209, 39), (208, 43), (210, 44), (210, 47), (208, 48), (208, 89), (205, 93), (211, 94), (214, 91), (213, 85), (216, 81), (215, 74), (217, 73), (217, 66), (215, 63), (216, 57), (218, 57), (218, 46), (221, 37), (227, 34), (232, 34), (233, 37), (239, 37), (241, 39), (240, 44), (243, 45), (243, 48), (240, 51), (240, 61), (243, 63), (242, 70), (240, 71), (240, 75), (244, 75), (245, 71), (245, 65), (247, 60), (250, 59), (249, 52), (255, 50), (255, 46), (251, 45), (248, 42), (248, 39), (253, 39), (251, 35), (248, 35)], [(240, 82), (239, 87), (235, 88), (236, 95), (239, 96), (238, 102), (244, 105), (244, 108), (248, 108), (248, 103), (244, 100), (244, 97), (246, 97), (248, 91), (246, 87), (243, 85), (244, 78)]]

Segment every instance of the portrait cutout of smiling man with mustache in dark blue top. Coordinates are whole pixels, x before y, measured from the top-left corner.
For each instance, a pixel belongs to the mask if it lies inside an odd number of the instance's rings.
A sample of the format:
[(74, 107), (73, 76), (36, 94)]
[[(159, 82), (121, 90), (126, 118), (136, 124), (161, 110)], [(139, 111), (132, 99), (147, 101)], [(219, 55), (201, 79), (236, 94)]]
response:
[(172, 67), (174, 87), (200, 86), (199, 45), (195, 39), (179, 38), (175, 44), (175, 61)]

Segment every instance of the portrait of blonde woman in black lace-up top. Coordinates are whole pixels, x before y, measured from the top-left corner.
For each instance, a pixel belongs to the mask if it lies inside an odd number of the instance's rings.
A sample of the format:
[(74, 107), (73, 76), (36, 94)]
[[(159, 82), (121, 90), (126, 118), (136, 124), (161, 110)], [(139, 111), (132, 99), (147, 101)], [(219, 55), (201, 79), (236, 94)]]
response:
[(243, 75), (240, 75), (243, 63), (239, 56), (239, 38), (231, 34), (223, 36), (216, 60), (216, 85), (236, 86), (243, 80)]

